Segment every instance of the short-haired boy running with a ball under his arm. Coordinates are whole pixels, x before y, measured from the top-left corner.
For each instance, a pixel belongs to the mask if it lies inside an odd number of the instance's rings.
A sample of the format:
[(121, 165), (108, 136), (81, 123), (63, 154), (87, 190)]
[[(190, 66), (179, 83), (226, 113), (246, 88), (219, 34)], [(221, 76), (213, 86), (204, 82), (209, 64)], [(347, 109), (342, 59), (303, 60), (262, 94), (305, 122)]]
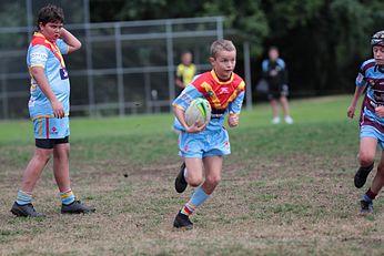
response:
[[(212, 71), (202, 73), (174, 100), (174, 127), (180, 131), (179, 154), (184, 163), (175, 178), (179, 193), (186, 186), (196, 187), (191, 199), (178, 213), (173, 226), (191, 229), (190, 215), (213, 193), (221, 180), (223, 156), (231, 153), (229, 134), (223, 126), (228, 116), (231, 127), (238, 126), (244, 99), (244, 81), (233, 70), (236, 49), (229, 40), (218, 40), (211, 45)], [(189, 126), (185, 109), (196, 98), (206, 99), (212, 107), (211, 120), (202, 126)]]

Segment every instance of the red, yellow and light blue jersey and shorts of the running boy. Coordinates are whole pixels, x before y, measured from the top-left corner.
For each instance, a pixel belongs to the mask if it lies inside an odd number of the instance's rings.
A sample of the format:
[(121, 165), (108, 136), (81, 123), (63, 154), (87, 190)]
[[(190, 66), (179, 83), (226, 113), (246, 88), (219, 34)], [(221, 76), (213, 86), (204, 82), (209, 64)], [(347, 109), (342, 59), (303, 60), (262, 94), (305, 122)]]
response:
[(229, 134), (223, 126), (225, 116), (240, 114), (244, 100), (244, 81), (232, 74), (229, 81), (222, 82), (214, 71), (196, 76), (174, 100), (173, 105), (186, 110), (196, 98), (206, 99), (212, 109), (211, 120), (204, 131), (186, 133), (178, 119), (174, 127), (181, 131), (179, 135), (179, 154), (183, 157), (208, 157), (231, 154)]

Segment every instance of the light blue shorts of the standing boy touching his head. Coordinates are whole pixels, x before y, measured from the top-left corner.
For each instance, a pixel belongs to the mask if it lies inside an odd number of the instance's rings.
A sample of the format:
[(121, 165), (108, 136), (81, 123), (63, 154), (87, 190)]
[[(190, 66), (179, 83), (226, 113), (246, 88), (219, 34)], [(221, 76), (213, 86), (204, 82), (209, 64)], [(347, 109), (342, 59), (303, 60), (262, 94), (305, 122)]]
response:
[(69, 136), (69, 117), (39, 117), (33, 120), (34, 139), (63, 139)]

